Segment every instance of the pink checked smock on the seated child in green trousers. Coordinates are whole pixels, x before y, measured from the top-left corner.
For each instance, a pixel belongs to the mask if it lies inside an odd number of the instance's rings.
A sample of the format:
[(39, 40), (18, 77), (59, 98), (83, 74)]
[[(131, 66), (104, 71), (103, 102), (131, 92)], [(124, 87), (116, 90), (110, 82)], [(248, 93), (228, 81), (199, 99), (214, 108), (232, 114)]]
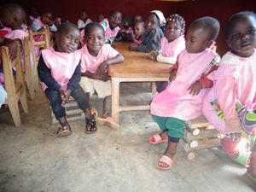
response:
[(177, 119), (195, 119), (201, 115), (202, 98), (207, 89), (202, 89), (197, 96), (189, 94), (189, 86), (201, 79), (207, 73), (212, 61), (216, 61), (218, 54), (211, 49), (197, 54), (190, 54), (183, 50), (177, 58), (176, 78), (168, 84), (166, 90), (154, 96), (150, 113), (160, 117)]

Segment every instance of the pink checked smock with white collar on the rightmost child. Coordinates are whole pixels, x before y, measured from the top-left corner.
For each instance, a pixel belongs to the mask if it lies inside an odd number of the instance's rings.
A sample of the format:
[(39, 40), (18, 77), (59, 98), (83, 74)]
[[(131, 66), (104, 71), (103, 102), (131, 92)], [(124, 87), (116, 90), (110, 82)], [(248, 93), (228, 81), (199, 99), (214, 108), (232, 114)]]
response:
[[(203, 101), (203, 114), (221, 133), (241, 131), (241, 122), (236, 112), (236, 100), (248, 108), (255, 108), (256, 101), (256, 51), (250, 57), (240, 57), (227, 52), (218, 67), (210, 75), (214, 85)], [(224, 119), (218, 118), (212, 107), (214, 99), (218, 100)]]

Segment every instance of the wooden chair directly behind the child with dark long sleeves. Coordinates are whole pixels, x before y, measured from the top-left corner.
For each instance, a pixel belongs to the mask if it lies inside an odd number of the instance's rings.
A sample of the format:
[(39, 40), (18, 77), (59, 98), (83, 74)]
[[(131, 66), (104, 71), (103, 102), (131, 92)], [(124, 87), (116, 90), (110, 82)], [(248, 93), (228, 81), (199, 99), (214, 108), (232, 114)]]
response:
[[(42, 41), (34, 40), (34, 38), (38, 37), (42, 38)], [(24, 39), (25, 79), (32, 99), (36, 92), (42, 91), (38, 79), (38, 60), (40, 55), (35, 53), (35, 49), (47, 49), (49, 46), (49, 28), (44, 28), (40, 32), (32, 32), (30, 30), (29, 37)]]

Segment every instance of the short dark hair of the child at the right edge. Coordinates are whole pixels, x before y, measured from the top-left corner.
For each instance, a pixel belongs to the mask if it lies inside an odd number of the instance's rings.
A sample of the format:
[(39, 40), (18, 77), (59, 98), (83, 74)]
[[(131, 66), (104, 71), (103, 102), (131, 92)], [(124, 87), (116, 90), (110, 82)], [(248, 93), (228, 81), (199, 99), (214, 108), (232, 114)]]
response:
[(253, 18), (256, 20), (256, 15), (253, 11), (241, 11), (230, 17), (230, 19), (227, 21), (226, 26), (224, 28), (224, 37), (226, 40), (229, 38), (230, 30), (234, 26), (236, 21), (247, 16), (253, 16)]

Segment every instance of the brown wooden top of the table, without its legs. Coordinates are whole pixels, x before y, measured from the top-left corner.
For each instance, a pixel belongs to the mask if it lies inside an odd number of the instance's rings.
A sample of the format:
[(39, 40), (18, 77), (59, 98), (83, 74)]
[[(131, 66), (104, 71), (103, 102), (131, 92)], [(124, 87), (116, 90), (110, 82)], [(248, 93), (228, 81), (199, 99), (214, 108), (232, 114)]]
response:
[(108, 73), (119, 78), (168, 78), (170, 64), (160, 63), (148, 58), (147, 53), (129, 50), (127, 43), (115, 43), (116, 49), (125, 57), (125, 61), (110, 65)]

